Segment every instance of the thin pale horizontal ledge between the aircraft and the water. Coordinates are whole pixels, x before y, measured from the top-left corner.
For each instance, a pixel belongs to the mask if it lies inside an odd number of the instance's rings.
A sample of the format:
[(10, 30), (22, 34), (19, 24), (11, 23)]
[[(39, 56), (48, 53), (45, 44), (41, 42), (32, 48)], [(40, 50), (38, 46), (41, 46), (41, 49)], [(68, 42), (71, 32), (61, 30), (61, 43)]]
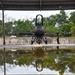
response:
[(75, 44), (33, 44), (33, 45), (0, 45), (0, 48), (34, 48), (51, 46), (75, 46)]

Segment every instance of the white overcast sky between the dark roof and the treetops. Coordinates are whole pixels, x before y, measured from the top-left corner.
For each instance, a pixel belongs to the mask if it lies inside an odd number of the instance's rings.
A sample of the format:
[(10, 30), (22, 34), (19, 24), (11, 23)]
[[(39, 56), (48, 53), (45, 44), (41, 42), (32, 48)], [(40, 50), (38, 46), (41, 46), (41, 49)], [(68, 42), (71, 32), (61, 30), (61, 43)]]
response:
[[(66, 13), (69, 15), (70, 12), (75, 11), (75, 10), (65, 10)], [(5, 15), (9, 19), (30, 19), (32, 20), (33, 18), (36, 17), (37, 14), (42, 14), (44, 17), (48, 17), (50, 15), (58, 14), (60, 11), (59, 10), (54, 10), (54, 11), (5, 11)], [(1, 11), (0, 11), (1, 15)], [(1, 18), (1, 16), (0, 16)]]

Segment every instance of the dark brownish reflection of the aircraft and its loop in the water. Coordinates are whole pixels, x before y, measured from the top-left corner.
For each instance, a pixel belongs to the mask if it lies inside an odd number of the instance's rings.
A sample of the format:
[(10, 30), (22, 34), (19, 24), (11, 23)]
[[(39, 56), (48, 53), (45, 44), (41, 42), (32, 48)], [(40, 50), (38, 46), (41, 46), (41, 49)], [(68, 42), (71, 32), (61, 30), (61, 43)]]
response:
[(36, 70), (40, 72), (43, 70), (43, 60), (45, 57), (44, 49), (41, 47), (35, 48), (34, 56), (35, 56)]

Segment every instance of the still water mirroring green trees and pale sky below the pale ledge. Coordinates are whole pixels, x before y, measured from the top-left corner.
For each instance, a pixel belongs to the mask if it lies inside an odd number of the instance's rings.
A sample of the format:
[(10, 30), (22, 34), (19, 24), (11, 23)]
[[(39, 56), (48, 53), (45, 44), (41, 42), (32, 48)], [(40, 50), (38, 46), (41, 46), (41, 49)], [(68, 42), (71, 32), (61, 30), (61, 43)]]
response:
[[(52, 71), (55, 71), (55, 73), (58, 72), (57, 74), (60, 75), (69, 73), (75, 74), (75, 51), (58, 50), (59, 54), (56, 54), (56, 51), (57, 50), (44, 50), (43, 48), (35, 48), (30, 51), (6, 50), (6, 73), (9, 74), (9, 70), (15, 69), (16, 67), (18, 67), (19, 72), (19, 67), (23, 69), (31, 66), (31, 68), (36, 69), (40, 73), (49, 70), (49, 73), (47, 72), (48, 74), (51, 74), (50, 72)], [(4, 69), (3, 54), (3, 50), (0, 50), (0, 74), (3, 74)]]

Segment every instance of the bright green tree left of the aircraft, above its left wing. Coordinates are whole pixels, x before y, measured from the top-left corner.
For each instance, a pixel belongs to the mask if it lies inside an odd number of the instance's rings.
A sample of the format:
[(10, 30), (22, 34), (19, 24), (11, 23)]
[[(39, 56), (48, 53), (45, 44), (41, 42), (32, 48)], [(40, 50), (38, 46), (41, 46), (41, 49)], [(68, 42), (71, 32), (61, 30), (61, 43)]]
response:
[(19, 19), (18, 21), (14, 21), (14, 32), (19, 33), (19, 32), (30, 32), (33, 29), (32, 21), (29, 20), (21, 20)]

